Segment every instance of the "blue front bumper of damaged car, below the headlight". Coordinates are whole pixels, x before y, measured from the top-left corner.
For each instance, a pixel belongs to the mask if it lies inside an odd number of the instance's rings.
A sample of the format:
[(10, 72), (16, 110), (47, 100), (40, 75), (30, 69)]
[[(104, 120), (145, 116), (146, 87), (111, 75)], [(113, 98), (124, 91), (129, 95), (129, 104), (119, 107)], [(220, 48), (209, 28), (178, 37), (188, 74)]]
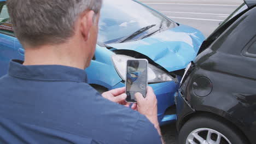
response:
[[(168, 107), (174, 106), (174, 96), (178, 91), (178, 84), (174, 81), (153, 83), (148, 86), (154, 89), (156, 98), (158, 99), (158, 121), (160, 125), (176, 121), (176, 113), (165, 115)], [(125, 83), (119, 82), (110, 89), (125, 87)]]

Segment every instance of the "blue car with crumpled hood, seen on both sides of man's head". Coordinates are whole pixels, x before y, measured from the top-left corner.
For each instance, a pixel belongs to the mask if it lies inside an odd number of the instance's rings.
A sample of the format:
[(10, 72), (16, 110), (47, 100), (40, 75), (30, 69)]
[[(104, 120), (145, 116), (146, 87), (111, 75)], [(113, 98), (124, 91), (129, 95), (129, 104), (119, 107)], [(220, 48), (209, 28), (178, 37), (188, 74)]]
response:
[[(24, 59), (25, 50), (15, 38), (5, 0), (0, 0), (0, 76), (10, 59)], [(199, 51), (203, 34), (168, 19), (135, 0), (103, 1), (95, 56), (88, 83), (99, 92), (125, 86), (127, 59), (146, 58), (148, 83), (158, 99), (160, 124), (176, 121), (174, 95), (184, 68)]]

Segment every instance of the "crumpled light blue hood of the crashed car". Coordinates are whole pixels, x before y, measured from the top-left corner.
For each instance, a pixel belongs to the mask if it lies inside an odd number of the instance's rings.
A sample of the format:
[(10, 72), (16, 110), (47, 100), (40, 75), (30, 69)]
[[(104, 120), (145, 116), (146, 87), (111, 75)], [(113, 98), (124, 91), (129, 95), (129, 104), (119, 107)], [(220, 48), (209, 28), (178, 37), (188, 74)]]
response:
[(205, 40), (195, 28), (180, 25), (151, 37), (127, 43), (108, 44), (112, 50), (133, 50), (148, 56), (168, 71), (184, 69), (193, 61)]

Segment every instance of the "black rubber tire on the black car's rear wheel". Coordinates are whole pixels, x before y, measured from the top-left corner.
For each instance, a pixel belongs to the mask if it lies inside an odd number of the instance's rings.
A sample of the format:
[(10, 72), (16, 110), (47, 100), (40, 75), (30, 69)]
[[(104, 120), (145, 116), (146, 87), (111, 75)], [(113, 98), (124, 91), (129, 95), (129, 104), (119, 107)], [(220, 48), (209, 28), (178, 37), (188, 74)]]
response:
[[(210, 134), (208, 133), (209, 131)], [(217, 142), (219, 137), (217, 135), (222, 137), (220, 142)], [(207, 139), (207, 136), (208, 138), (211, 138)], [(197, 140), (195, 137), (200, 140)], [(228, 139), (228, 141), (226, 141), (226, 139)], [(193, 141), (194, 143), (200, 143), (200, 141), (203, 143), (203, 140), (212, 141), (211, 143), (214, 143), (215, 141), (216, 143), (220, 144), (248, 143), (243, 134), (234, 128), (234, 126), (232, 127), (231, 124), (224, 122), (222, 118), (217, 118), (210, 115), (200, 115), (190, 118), (189, 121), (183, 125), (181, 131), (179, 131), (178, 142), (179, 144), (189, 144), (187, 140)]]

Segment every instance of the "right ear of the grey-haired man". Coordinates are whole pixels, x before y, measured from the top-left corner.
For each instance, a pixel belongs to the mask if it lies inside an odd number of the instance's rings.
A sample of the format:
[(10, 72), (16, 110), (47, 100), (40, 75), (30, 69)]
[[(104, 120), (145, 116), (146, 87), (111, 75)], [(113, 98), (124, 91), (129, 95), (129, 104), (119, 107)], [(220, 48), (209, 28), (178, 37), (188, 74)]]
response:
[(89, 32), (94, 25), (94, 11), (86, 11), (84, 14), (81, 16), (81, 23), (80, 23), (80, 32), (84, 37), (84, 40), (87, 41), (89, 38)]

